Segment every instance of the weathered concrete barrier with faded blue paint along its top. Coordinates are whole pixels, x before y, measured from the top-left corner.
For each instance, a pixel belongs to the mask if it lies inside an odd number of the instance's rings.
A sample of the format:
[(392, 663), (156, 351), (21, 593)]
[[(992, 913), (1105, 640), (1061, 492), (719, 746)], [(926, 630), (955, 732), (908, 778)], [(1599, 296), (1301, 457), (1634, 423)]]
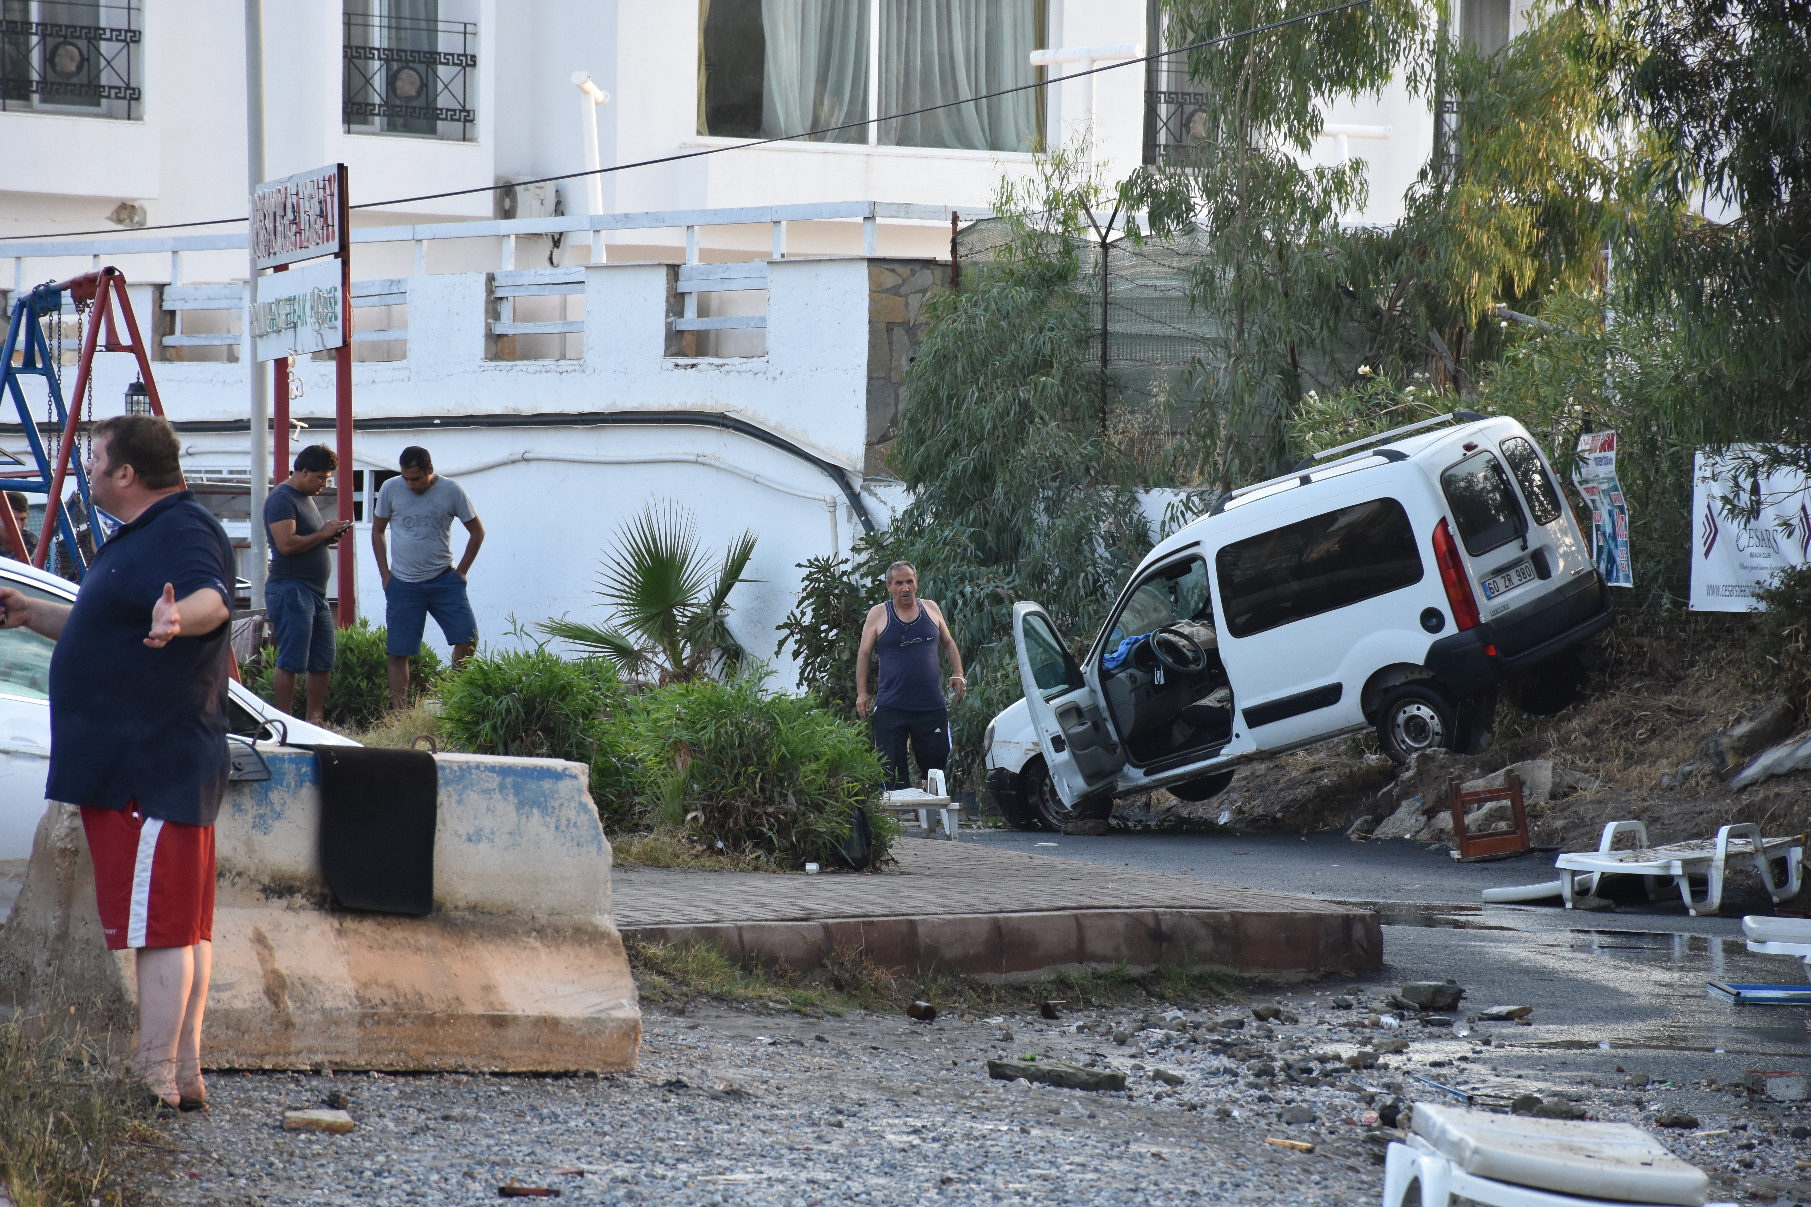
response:
[[(263, 746), (216, 822), (210, 1068), (574, 1071), (636, 1062), (641, 1012), (610, 919), (610, 845), (581, 764), (438, 755), (435, 912), (335, 910), (308, 751)], [(136, 1026), (71, 805), (38, 823), (0, 930), (0, 1001)]]

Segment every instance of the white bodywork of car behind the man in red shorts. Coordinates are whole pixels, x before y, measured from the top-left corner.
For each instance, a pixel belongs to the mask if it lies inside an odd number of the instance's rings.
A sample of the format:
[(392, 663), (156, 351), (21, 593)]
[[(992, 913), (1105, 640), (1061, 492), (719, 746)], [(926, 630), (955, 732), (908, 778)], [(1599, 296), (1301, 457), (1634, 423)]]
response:
[[(0, 586), (74, 603), (76, 584), (22, 561), (0, 561)], [(22, 872), (31, 840), (43, 816), (43, 780), (51, 765), (51, 651), (49, 637), (29, 628), (0, 630), (0, 878)], [(228, 684), (228, 724), (252, 735), (266, 720), (281, 720), (293, 742), (346, 744), (350, 738), (279, 713), (239, 682)], [(11, 867), (9, 867), (11, 865)]]

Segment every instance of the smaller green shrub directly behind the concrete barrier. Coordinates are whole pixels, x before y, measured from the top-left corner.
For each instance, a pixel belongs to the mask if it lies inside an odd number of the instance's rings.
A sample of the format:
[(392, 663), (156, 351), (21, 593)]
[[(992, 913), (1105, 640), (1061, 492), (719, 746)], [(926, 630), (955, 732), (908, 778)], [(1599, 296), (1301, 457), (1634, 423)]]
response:
[(462, 751), (589, 764), (601, 717), (623, 693), (603, 659), (549, 650), (474, 657), (440, 684), (440, 731)]

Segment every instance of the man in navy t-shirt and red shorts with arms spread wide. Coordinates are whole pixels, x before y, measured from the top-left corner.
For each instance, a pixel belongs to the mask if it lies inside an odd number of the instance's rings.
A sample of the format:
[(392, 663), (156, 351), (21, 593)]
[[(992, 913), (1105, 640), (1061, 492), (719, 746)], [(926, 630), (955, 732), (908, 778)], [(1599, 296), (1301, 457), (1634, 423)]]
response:
[(234, 561), (179, 458), (161, 418), (96, 423), (91, 492), (120, 530), (74, 604), (0, 588), (0, 608), (5, 628), (56, 641), (45, 796), (81, 805), (107, 946), (138, 952), (138, 1071), (199, 1109)]

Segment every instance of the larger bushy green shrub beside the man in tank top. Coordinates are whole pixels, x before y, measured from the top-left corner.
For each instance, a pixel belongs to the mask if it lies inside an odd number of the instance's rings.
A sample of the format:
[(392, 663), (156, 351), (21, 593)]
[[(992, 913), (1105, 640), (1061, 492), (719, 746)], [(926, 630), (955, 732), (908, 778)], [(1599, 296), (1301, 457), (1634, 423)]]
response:
[[(618, 829), (677, 825), (726, 852), (837, 867), (882, 778), (866, 727), (743, 677), (630, 699), (605, 724), (592, 791)], [(869, 825), (884, 860), (898, 823), (869, 809)]]

